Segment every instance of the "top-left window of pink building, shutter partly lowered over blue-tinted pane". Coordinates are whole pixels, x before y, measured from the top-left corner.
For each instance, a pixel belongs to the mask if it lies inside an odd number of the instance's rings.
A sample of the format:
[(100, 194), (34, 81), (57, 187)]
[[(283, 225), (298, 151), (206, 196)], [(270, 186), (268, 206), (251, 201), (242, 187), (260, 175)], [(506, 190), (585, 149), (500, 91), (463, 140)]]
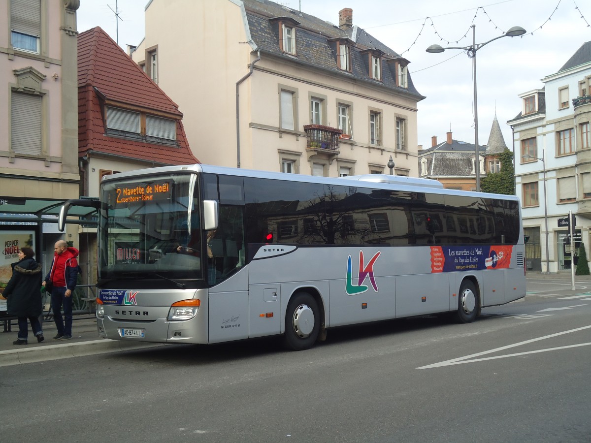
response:
[(10, 27), (14, 49), (39, 54), (41, 0), (11, 0)]

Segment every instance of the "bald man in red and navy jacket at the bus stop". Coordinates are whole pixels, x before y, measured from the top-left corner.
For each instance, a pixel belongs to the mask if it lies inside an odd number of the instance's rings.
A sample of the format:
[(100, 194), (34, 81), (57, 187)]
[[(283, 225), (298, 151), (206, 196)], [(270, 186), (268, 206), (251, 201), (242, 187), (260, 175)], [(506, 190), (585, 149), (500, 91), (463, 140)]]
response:
[[(72, 292), (76, 289), (78, 279), (78, 250), (68, 247), (64, 240), (58, 240), (54, 245), (55, 255), (51, 262), (51, 269), (42, 283), (46, 286), (51, 282), (51, 310), (56, 322), (57, 335), (53, 340), (70, 340), (72, 338)], [(64, 307), (64, 319), (61, 317), (61, 306)]]

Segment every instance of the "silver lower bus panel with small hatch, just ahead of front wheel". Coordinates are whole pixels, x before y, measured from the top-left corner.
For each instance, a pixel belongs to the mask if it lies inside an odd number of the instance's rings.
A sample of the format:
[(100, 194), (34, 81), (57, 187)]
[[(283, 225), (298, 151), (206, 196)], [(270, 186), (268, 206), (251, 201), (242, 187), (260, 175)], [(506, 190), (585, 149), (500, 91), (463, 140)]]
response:
[(269, 283), (248, 288), (249, 337), (279, 334), (281, 331), (281, 285)]

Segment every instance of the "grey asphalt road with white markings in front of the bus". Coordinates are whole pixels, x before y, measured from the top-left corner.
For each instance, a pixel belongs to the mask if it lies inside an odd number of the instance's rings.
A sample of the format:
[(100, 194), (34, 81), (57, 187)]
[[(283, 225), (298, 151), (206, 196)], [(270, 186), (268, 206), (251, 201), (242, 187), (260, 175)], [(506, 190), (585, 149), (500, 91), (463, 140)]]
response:
[(331, 330), (301, 352), (258, 340), (3, 367), (0, 439), (589, 442), (590, 368), (591, 289), (531, 279), (524, 301), (467, 325), (421, 317)]

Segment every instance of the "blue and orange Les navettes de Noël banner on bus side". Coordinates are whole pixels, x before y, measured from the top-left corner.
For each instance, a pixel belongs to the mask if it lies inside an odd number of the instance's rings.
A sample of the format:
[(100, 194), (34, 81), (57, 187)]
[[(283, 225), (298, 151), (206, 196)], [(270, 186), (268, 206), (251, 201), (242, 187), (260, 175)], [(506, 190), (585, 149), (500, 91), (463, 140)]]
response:
[(513, 246), (431, 246), (431, 272), (509, 268)]

